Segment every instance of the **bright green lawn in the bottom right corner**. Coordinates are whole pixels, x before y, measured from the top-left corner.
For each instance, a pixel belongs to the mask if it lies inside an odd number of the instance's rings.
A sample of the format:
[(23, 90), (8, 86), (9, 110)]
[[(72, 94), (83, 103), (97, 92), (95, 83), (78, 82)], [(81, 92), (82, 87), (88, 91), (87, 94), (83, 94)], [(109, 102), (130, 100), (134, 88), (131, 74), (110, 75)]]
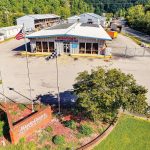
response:
[(94, 150), (149, 150), (150, 122), (124, 115)]

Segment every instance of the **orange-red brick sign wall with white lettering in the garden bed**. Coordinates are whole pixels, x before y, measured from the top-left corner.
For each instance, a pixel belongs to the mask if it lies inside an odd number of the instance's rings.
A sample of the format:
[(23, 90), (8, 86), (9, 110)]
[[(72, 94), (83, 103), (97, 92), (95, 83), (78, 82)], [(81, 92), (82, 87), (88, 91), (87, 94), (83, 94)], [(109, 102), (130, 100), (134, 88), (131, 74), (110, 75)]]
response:
[(12, 143), (16, 144), (20, 138), (28, 137), (36, 130), (46, 127), (51, 121), (51, 113), (51, 107), (47, 107), (12, 126), (9, 131)]

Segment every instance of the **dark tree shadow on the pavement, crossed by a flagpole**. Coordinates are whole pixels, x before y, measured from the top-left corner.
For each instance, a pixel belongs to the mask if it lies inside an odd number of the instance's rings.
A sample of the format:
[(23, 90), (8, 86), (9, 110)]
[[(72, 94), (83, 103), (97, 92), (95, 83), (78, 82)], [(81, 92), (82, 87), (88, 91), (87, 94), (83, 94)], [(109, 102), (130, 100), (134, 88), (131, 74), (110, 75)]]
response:
[[(46, 94), (39, 95), (37, 99), (40, 100), (41, 103), (45, 105), (58, 106), (57, 94)], [(64, 91), (60, 93), (60, 104), (61, 108), (71, 108), (74, 107), (76, 103), (76, 96), (73, 94), (71, 90)]]

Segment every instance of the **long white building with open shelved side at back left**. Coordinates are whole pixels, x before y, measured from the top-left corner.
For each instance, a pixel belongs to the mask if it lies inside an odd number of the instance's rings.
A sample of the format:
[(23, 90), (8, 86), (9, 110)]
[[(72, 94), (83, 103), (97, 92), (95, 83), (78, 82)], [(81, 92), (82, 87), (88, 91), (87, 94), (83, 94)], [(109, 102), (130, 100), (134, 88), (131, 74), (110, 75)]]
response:
[(17, 19), (17, 25), (24, 25), (26, 31), (40, 30), (60, 22), (55, 14), (26, 15)]

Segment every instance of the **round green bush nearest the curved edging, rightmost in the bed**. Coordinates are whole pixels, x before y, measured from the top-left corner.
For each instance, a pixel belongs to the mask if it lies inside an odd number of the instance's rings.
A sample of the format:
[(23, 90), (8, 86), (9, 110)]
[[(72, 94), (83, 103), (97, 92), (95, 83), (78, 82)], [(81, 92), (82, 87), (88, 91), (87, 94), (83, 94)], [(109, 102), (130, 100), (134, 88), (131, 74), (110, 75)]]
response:
[(91, 135), (93, 133), (93, 129), (88, 125), (81, 125), (79, 128), (79, 132), (83, 135)]

